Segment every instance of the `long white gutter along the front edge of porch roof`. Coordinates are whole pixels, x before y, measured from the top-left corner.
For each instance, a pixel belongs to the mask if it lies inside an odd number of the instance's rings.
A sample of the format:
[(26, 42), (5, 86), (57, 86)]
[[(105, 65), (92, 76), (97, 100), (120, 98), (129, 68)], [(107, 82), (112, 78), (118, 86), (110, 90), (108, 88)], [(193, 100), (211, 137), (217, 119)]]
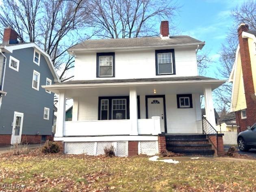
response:
[(54, 88), (89, 88), (89, 87), (112, 87), (112, 86), (143, 86), (152, 84), (223, 84), (227, 80), (191, 80), (191, 81), (161, 81), (161, 82), (127, 82), (127, 83), (98, 83), (98, 84), (54, 84), (54, 85), (43, 85), (42, 88), (54, 89)]

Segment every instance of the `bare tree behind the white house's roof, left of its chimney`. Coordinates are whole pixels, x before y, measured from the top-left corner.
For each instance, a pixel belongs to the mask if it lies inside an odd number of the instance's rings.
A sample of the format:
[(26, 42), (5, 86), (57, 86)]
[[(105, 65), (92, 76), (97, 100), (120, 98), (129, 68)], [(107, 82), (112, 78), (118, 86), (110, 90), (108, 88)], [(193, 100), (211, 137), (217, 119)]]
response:
[(156, 19), (171, 22), (179, 9), (178, 4), (164, 0), (91, 0), (90, 7), (96, 35), (115, 39), (158, 35)]

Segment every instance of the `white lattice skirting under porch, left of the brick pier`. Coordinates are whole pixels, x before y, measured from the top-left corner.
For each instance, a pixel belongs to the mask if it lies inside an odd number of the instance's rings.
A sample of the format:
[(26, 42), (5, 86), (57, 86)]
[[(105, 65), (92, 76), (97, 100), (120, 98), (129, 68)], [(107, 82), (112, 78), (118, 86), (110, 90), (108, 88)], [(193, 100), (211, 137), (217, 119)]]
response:
[(103, 155), (105, 147), (115, 148), (115, 155), (119, 157), (128, 156), (128, 141), (117, 142), (65, 142), (64, 153)]

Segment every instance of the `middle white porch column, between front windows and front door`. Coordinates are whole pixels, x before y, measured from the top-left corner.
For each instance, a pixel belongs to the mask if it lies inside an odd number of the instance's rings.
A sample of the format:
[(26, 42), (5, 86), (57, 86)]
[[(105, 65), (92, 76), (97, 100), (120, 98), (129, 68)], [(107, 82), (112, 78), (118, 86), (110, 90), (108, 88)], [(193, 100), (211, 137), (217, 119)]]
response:
[(130, 121), (132, 124), (130, 135), (138, 135), (137, 91), (135, 88), (130, 89), (129, 100), (130, 100)]

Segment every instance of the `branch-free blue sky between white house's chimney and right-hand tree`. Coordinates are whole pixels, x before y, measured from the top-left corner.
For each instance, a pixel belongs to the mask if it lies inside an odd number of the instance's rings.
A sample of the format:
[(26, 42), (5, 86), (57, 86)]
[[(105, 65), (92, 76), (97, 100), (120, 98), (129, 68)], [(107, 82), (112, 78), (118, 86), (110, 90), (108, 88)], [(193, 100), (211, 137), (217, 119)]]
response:
[(182, 7), (176, 23), (182, 35), (189, 35), (205, 41), (203, 50), (210, 51), (213, 63), (207, 69), (206, 76), (220, 78), (216, 75), (219, 66), (219, 51), (225, 43), (233, 20), (231, 11), (241, 5), (243, 0), (179, 0)]

